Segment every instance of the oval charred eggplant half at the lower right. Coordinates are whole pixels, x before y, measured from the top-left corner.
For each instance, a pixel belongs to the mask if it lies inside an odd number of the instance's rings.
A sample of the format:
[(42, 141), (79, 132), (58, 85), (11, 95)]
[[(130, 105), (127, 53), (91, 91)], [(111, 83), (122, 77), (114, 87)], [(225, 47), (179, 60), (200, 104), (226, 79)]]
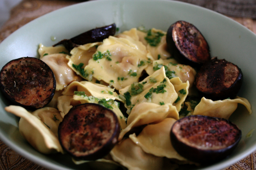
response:
[(183, 157), (202, 164), (217, 162), (237, 146), (241, 130), (226, 119), (192, 115), (176, 121), (171, 142)]

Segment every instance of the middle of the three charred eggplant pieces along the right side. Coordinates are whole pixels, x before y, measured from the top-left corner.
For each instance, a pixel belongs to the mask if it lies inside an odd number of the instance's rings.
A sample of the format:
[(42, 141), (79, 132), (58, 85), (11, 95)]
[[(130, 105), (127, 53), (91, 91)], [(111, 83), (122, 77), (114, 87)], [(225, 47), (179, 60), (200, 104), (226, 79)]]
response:
[(241, 69), (225, 59), (212, 58), (196, 74), (196, 88), (206, 99), (234, 98), (243, 82)]

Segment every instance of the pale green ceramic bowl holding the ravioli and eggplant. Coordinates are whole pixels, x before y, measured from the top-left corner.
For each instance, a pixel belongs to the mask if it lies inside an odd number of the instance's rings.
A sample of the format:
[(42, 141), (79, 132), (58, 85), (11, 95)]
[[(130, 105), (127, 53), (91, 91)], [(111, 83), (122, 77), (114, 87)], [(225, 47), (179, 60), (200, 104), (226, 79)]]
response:
[[(246, 134), (256, 128), (256, 35), (244, 26), (216, 12), (191, 4), (171, 0), (98, 0), (76, 4), (46, 14), (26, 24), (0, 44), (0, 68), (19, 57), (38, 57), (39, 43), (46, 46), (71, 38), (82, 32), (116, 23), (121, 31), (145, 26), (167, 31), (178, 20), (194, 24), (204, 35), (212, 56), (238, 65), (244, 73), (244, 83), (238, 96), (248, 99), (252, 115), (239, 106), (230, 120), (242, 130), (242, 140), (226, 159), (200, 170), (217, 170), (236, 163), (256, 150), (256, 134)], [(51, 36), (56, 41), (51, 41)], [(75, 165), (62, 154), (44, 155), (32, 148), (18, 130), (19, 118), (4, 111), (10, 105), (2, 93), (0, 99), (0, 138), (22, 156), (53, 170), (87, 170), (86, 164)], [(103, 169), (103, 168), (102, 168)], [(187, 169), (187, 168), (185, 168)]]

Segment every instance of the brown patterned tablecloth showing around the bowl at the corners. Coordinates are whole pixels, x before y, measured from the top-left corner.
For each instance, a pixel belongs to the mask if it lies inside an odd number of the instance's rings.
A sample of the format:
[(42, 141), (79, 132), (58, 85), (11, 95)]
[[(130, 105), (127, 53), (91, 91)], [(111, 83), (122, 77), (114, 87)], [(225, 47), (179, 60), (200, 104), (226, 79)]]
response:
[[(184, 1), (184, 0), (183, 0)], [(201, 0), (200, 0), (201, 1)], [(0, 42), (24, 24), (48, 12), (81, 2), (81, 0), (24, 0), (11, 12), (11, 18), (0, 30)], [(233, 18), (256, 33), (256, 22), (250, 18)], [(1, 170), (47, 170), (20, 156), (0, 140)], [(256, 170), (256, 152), (225, 170)]]

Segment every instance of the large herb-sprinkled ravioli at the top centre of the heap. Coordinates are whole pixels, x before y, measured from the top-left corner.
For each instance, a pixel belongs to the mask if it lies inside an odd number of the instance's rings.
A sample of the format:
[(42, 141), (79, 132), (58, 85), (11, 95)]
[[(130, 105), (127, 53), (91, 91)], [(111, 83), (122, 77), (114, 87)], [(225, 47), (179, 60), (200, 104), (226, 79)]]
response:
[[(139, 65), (141, 61), (143, 64)], [(142, 71), (147, 67), (146, 61), (147, 49), (141, 42), (133, 40), (130, 36), (109, 36), (99, 45), (84, 71), (97, 80), (113, 82), (114, 88), (121, 89), (138, 82)]]

